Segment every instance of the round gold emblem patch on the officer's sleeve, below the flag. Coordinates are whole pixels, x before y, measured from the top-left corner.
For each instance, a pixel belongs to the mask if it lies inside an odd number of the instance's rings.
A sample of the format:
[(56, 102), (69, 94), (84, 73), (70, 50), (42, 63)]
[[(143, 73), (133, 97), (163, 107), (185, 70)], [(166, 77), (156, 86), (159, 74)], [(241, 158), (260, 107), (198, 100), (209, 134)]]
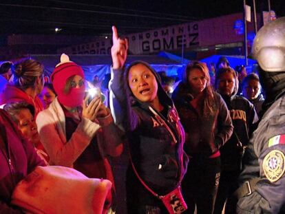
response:
[(262, 164), (264, 174), (270, 182), (276, 182), (285, 171), (285, 156), (282, 151), (273, 150), (269, 152)]

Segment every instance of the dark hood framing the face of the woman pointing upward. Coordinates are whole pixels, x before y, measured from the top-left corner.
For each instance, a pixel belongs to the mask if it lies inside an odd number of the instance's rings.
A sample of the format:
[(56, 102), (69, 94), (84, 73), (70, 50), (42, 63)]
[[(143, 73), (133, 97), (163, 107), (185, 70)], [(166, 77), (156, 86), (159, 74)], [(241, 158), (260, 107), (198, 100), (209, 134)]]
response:
[(163, 89), (162, 85), (161, 85), (161, 79), (160, 76), (158, 76), (157, 72), (151, 67), (151, 65), (149, 65), (149, 63), (146, 63), (145, 61), (134, 61), (133, 63), (129, 64), (129, 66), (127, 67), (127, 69), (125, 70), (125, 90), (127, 92), (127, 96), (129, 97), (129, 101), (131, 102), (132, 106), (136, 106), (136, 105), (140, 105), (141, 107), (148, 109), (149, 108), (149, 103), (148, 102), (141, 102), (140, 100), (138, 100), (134, 94), (132, 94), (131, 89), (129, 88), (129, 83), (128, 83), (128, 75), (129, 75), (129, 70), (131, 69), (131, 67), (133, 67), (134, 65), (138, 65), (138, 64), (142, 64), (145, 65), (147, 68), (149, 68), (149, 70), (152, 72), (152, 74), (154, 74), (154, 76), (156, 77), (156, 81), (158, 83), (158, 99), (160, 100), (160, 103), (162, 105), (167, 105), (169, 107), (173, 106), (173, 102), (171, 100), (171, 98), (167, 95), (167, 93), (165, 92), (165, 90)]

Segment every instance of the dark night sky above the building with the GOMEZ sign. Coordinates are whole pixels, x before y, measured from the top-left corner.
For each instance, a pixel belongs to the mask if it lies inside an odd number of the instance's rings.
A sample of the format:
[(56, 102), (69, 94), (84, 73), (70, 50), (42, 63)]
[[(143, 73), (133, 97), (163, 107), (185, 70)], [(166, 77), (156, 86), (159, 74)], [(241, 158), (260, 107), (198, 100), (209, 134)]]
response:
[[(267, 0), (255, 0), (257, 12)], [(246, 1), (252, 6), (252, 1)], [(285, 1), (271, 0), (278, 17)], [(123, 34), (242, 12), (242, 0), (7, 0), (0, 1), (0, 34), (58, 34), (106, 36), (116, 25)]]

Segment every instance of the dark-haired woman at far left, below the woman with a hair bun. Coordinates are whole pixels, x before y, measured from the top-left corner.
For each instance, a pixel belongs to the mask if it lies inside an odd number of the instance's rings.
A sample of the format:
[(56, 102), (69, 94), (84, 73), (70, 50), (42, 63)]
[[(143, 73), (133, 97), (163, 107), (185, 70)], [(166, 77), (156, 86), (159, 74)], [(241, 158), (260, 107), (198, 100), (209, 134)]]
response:
[(45, 164), (47, 164), (49, 158), (41, 144), (36, 122), (34, 120), (34, 107), (25, 102), (16, 102), (6, 104), (4, 110), (10, 114), (12, 120), (16, 122), (19, 130), (23, 133), (23, 136), (32, 143), (36, 153), (45, 161)]

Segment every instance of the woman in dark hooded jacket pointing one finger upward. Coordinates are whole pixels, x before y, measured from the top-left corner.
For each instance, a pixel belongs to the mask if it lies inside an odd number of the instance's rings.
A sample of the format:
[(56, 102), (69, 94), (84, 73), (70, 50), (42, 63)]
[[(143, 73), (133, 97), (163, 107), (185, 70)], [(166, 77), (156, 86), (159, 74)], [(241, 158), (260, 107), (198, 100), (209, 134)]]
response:
[(168, 213), (145, 185), (158, 195), (166, 195), (180, 185), (187, 164), (182, 149), (184, 131), (158, 74), (142, 61), (124, 69), (126, 58), (127, 40), (119, 39), (113, 27), (111, 106), (116, 122), (127, 133), (131, 156), (127, 210), (129, 214)]

